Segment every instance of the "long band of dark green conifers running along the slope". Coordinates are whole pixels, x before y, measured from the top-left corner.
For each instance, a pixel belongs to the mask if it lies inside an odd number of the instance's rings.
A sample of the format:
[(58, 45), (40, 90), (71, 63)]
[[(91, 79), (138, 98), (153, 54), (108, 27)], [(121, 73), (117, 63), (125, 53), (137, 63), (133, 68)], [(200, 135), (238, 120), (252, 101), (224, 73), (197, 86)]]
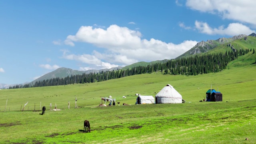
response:
[[(163, 63), (150, 64), (147, 66), (136, 66), (126, 70), (101, 71), (98, 73), (91, 72), (90, 74), (77, 74), (65, 78), (51, 78), (48, 80), (37, 81), (34, 84), (10, 86), (9, 89), (102, 82), (136, 74), (150, 74), (152, 72), (187, 76), (220, 72), (221, 70), (226, 69), (229, 62), (235, 60), (238, 56), (247, 54), (249, 51), (252, 51), (252, 49), (240, 49), (226, 51), (225, 53), (204, 54), (201, 56), (196, 55), (188, 58), (166, 60), (166, 62)], [(254, 52), (253, 49), (253, 53)]]

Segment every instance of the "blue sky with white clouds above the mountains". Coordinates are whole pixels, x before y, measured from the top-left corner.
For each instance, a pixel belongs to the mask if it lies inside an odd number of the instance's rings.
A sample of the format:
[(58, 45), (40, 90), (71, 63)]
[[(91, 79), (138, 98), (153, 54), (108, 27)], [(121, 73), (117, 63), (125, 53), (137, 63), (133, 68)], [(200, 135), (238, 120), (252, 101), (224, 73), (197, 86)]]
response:
[(252, 0), (1, 0), (0, 84), (172, 59), (256, 30)]

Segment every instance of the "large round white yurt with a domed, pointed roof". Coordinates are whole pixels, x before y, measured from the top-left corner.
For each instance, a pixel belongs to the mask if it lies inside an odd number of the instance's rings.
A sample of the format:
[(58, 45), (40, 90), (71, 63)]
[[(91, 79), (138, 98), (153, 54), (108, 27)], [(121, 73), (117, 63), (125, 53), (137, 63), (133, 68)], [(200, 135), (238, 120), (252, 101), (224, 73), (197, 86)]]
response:
[(156, 94), (156, 104), (179, 104), (182, 103), (182, 96), (173, 86), (167, 84)]

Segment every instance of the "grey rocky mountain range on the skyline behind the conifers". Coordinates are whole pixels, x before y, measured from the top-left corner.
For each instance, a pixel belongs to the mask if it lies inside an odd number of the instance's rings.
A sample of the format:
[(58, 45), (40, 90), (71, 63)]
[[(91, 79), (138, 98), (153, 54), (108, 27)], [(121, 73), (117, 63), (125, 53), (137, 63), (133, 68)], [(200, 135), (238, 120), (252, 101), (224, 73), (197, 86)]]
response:
[[(256, 37), (255, 33), (252, 33), (248, 36), (254, 36)], [(190, 50), (188, 50), (187, 52), (185, 52), (184, 54), (178, 56), (177, 58), (181, 58), (181, 57), (189, 57), (192, 56), (194, 54), (200, 54), (200, 53), (205, 53), (208, 52), (214, 48), (216, 48), (217, 46), (221, 45), (221, 44), (228, 44), (233, 42), (234, 40), (246, 40), (247, 35), (245, 34), (240, 34), (238, 36), (233, 36), (232, 38), (219, 38), (218, 40), (207, 40), (206, 42), (202, 41), (202, 42), (198, 42), (193, 48), (191, 48)], [(47, 80), (47, 79), (51, 79), (51, 78), (65, 78), (66, 76), (71, 76), (71, 75), (77, 75), (77, 74), (89, 74), (91, 72), (97, 73), (97, 72), (101, 72), (101, 71), (112, 71), (112, 70), (119, 70), (119, 69), (127, 69), (127, 68), (132, 68), (135, 66), (146, 66), (146, 65), (150, 65), (150, 64), (155, 64), (155, 63), (163, 63), (166, 62), (166, 60), (156, 60), (153, 62), (137, 62), (125, 67), (116, 67), (116, 68), (110, 68), (110, 69), (101, 69), (101, 70), (86, 70), (86, 71), (79, 71), (79, 70), (72, 70), (70, 68), (58, 68), (52, 72), (49, 72), (43, 76), (41, 76), (40, 78), (37, 78), (36, 80), (32, 81), (32, 82), (26, 82), (24, 84), (33, 84), (36, 81), (41, 81), (41, 80)], [(0, 89), (4, 89), (4, 88), (9, 88), (10, 86), (15, 86), (17, 84), (0, 84)], [(23, 84), (21, 84), (23, 85)]]

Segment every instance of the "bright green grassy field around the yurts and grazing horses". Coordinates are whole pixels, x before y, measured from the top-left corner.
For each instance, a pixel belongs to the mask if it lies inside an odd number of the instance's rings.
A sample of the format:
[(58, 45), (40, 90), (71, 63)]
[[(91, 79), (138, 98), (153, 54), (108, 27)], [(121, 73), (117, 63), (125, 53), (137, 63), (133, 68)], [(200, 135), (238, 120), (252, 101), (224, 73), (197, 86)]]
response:
[[(0, 90), (0, 143), (253, 144), (255, 58), (250, 52), (222, 72), (198, 76), (158, 72), (90, 84)], [(155, 96), (166, 84), (174, 86), (187, 102), (135, 105), (136, 93)], [(223, 94), (223, 102), (199, 102), (211, 85)], [(110, 95), (130, 105), (96, 107), (101, 97)], [(40, 103), (46, 106), (43, 116)], [(50, 103), (61, 110), (49, 110)], [(83, 132), (86, 119), (90, 133)]]

